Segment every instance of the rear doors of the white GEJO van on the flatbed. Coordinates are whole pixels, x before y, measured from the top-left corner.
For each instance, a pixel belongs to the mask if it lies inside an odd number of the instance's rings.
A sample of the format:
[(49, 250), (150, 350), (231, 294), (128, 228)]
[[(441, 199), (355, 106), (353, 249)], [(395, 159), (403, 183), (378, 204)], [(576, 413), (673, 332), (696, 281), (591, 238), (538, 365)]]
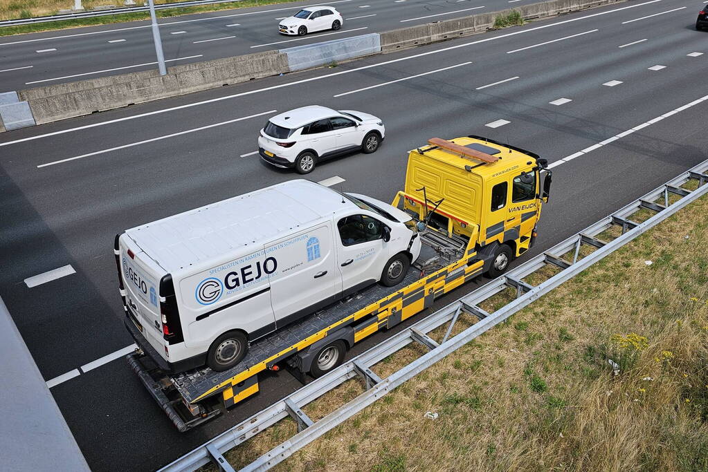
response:
[(165, 341), (160, 319), (159, 281), (165, 275), (164, 270), (130, 236), (121, 235), (118, 245), (128, 315), (145, 339), (162, 353)]

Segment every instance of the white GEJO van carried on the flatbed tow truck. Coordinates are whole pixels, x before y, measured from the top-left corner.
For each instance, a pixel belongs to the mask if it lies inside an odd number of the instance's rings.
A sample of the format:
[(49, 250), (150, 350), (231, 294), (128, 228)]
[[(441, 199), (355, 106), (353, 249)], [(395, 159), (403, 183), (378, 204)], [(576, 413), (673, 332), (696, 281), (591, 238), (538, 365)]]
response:
[(196, 208), (116, 236), (125, 324), (163, 370), (227, 370), (250, 341), (403, 281), (416, 235), (388, 203), (307, 180)]

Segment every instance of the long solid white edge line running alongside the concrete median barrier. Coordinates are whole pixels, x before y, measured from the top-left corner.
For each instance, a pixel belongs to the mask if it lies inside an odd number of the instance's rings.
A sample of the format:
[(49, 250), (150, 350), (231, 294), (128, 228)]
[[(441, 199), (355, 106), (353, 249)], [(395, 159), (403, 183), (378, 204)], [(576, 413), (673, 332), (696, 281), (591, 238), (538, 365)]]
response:
[[(411, 56), (406, 56), (406, 57), (401, 57), (399, 59), (391, 59), (390, 61), (383, 61), (379, 62), (377, 64), (369, 64), (367, 66), (360, 66), (360, 67), (355, 67), (354, 69), (349, 69), (346, 71), (339, 71), (339, 72), (333, 72), (333, 73), (326, 73), (322, 76), (316, 76), (316, 77), (310, 77), (310, 78), (303, 78), (299, 81), (293, 81), (293, 82), (288, 82), (288, 83), (281, 83), (278, 85), (272, 85), (270, 87), (264, 87), (264, 88), (258, 88), (256, 90), (249, 90), (248, 92), (240, 92), (240, 93), (234, 93), (233, 95), (225, 95), (224, 97), (217, 97), (217, 98), (211, 98), (210, 100), (202, 100), (201, 102), (194, 102), (194, 103), (188, 103), (185, 105), (178, 105), (177, 107), (170, 107), (170, 108), (164, 108), (163, 110), (155, 110), (154, 112), (146, 112), (146, 113), (139, 113), (139, 114), (134, 114), (130, 117), (122, 117), (122, 118), (116, 118), (116, 119), (109, 119), (106, 120), (105, 122), (99, 122), (99, 123), (91, 123), (91, 124), (84, 124), (83, 126), (76, 126), (75, 128), (69, 128), (69, 129), (62, 129), (60, 131), (52, 131), (51, 133), (45, 133), (45, 134), (38, 134), (36, 136), (28, 136), (27, 138), (20, 138), (20, 139), (15, 139), (13, 141), (7, 141), (5, 143), (0, 143), (0, 147), (2, 146), (9, 146), (11, 144), (17, 144), (17, 143), (24, 143), (25, 141), (34, 141), (35, 139), (41, 139), (41, 138), (48, 138), (50, 136), (56, 136), (57, 134), (64, 134), (64, 133), (73, 133), (74, 131), (81, 131), (83, 129), (91, 129), (91, 128), (96, 128), (97, 126), (105, 126), (107, 124), (114, 124), (114, 123), (120, 123), (120, 122), (125, 122), (130, 119), (138, 119), (138, 118), (144, 118), (144, 117), (149, 117), (154, 114), (161, 114), (161, 113), (168, 113), (168, 112), (173, 112), (176, 110), (184, 110), (185, 108), (190, 108), (190, 107), (198, 107), (201, 105), (207, 105), (209, 103), (214, 103), (214, 102), (221, 102), (222, 100), (232, 100), (232, 98), (239, 98), (239, 97), (244, 97), (246, 95), (252, 95), (254, 93), (261, 93), (261, 92), (269, 92), (270, 90), (276, 90), (278, 88), (285, 88), (285, 87), (291, 87), (292, 85), (299, 85), (301, 83), (307, 83), (307, 82), (312, 82), (312, 81), (319, 81), (324, 78), (331, 78), (331, 77), (336, 77), (344, 73), (352, 73), (352, 72), (358, 72), (358, 71), (363, 71), (365, 69), (372, 69), (373, 67), (381, 67), (381, 66), (387, 66), (389, 64), (394, 64), (395, 62), (400, 62), (400, 61), (408, 61), (409, 59), (418, 59), (418, 57), (426, 57), (429, 56), (430, 54), (440, 54), (441, 52), (446, 52), (446, 51), (451, 51), (452, 49), (458, 49), (460, 47), (468, 47), (468, 46), (474, 46), (474, 45), (479, 45), (483, 42), (489, 42), (489, 41), (496, 41), (505, 37), (510, 37), (510, 36), (515, 36), (515, 35), (523, 35), (525, 33), (530, 33), (532, 31), (537, 31), (537, 30), (542, 30), (544, 28), (552, 28), (554, 26), (559, 26), (559, 25), (564, 25), (566, 23), (572, 23), (573, 21), (579, 21), (579, 20), (586, 20), (587, 18), (594, 18), (595, 16), (601, 16), (601, 15), (607, 15), (609, 13), (616, 13), (617, 11), (623, 11), (627, 10), (627, 8), (636, 8), (638, 6), (644, 6), (648, 4), (653, 4), (656, 3), (657, 1), (662, 1), (662, 0), (649, 0), (645, 1), (644, 3), (641, 4), (634, 4), (634, 5), (629, 5), (629, 6), (623, 6), (622, 8), (615, 8), (614, 10), (607, 10), (607, 11), (600, 11), (600, 13), (593, 13), (591, 15), (586, 15), (586, 16), (578, 16), (578, 18), (571, 18), (569, 20), (563, 20), (559, 21), (557, 23), (549, 23), (547, 25), (541, 25), (537, 26), (535, 28), (526, 28), (523, 30), (518, 30), (514, 31), (512, 33), (506, 33), (504, 35), (498, 35), (498, 36), (491, 36), (487, 37), (484, 40), (476, 40), (472, 42), (465, 42), (459, 45), (455, 46), (450, 46), (450, 47), (444, 47), (442, 49), (435, 49), (435, 51), (428, 51), (428, 52), (421, 52), (418, 54), (413, 54)], [(334, 2), (330, 2), (334, 3)]]

